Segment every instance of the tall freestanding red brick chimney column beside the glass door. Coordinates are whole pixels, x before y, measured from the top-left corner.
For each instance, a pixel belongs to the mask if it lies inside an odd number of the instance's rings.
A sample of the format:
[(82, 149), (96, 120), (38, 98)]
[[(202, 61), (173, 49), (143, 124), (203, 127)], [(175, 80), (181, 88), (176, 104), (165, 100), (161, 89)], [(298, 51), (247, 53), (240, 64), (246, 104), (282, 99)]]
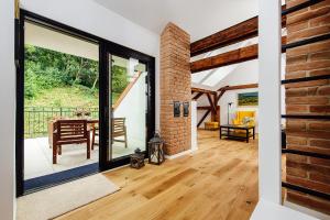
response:
[(165, 153), (177, 154), (190, 148), (191, 118), (174, 118), (173, 101), (191, 100), (190, 36), (173, 23), (161, 35), (161, 134)]

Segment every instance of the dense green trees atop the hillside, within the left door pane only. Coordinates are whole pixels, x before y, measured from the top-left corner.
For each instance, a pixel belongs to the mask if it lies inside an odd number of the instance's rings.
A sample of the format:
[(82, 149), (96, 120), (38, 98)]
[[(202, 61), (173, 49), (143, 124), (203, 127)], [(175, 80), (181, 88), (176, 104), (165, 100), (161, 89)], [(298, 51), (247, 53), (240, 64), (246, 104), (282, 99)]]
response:
[(45, 89), (82, 86), (98, 90), (98, 62), (32, 45), (25, 45), (25, 98)]

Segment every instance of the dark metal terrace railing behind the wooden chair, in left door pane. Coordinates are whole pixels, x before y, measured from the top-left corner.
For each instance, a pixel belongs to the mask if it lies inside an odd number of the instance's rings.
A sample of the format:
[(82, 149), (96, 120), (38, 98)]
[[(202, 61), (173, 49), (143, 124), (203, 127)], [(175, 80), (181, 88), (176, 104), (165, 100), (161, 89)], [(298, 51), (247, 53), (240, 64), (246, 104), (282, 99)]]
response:
[(99, 118), (99, 108), (74, 107), (25, 107), (24, 108), (24, 138), (47, 135), (48, 122), (55, 118), (76, 118), (77, 112), (88, 112), (89, 118)]

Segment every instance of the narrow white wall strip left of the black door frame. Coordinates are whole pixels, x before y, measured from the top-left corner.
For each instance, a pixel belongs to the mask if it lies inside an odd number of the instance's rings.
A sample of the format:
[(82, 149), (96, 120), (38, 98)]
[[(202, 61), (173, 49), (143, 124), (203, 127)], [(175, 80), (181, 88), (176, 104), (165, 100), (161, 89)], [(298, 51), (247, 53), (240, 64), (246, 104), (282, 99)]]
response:
[(14, 219), (14, 3), (0, 1), (0, 219)]

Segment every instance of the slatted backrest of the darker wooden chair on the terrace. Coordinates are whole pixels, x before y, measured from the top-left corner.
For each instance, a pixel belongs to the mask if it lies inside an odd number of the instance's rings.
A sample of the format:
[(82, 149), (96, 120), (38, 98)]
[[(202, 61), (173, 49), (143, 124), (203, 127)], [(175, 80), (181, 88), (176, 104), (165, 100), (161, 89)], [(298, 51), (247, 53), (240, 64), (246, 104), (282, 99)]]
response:
[(57, 140), (74, 141), (87, 139), (87, 121), (86, 120), (57, 120)]

